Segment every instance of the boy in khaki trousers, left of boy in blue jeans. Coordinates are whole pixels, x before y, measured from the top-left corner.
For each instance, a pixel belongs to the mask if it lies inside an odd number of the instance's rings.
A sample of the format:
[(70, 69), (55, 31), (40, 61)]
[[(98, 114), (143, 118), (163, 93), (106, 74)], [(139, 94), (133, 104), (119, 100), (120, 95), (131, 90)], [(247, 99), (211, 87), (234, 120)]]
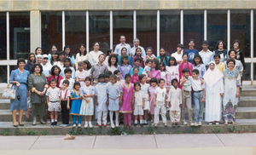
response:
[(189, 69), (184, 68), (183, 69), (183, 77), (180, 80), (180, 85), (182, 87), (183, 92), (183, 107), (182, 107), (182, 117), (183, 125), (187, 125), (187, 122), (185, 120), (185, 107), (187, 107), (188, 115), (189, 115), (189, 123), (191, 126), (194, 126), (193, 120), (192, 120), (192, 112), (191, 112), (191, 82), (188, 79), (189, 78)]

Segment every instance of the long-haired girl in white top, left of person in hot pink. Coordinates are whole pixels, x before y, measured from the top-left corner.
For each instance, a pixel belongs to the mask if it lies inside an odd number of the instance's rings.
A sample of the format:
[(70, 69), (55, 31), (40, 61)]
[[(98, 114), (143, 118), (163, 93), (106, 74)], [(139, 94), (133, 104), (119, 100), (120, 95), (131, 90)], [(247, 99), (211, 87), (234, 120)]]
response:
[(166, 71), (170, 75), (170, 78), (168, 80), (172, 81), (173, 78), (176, 78), (177, 81), (179, 81), (178, 65), (174, 57), (170, 57), (166, 66)]

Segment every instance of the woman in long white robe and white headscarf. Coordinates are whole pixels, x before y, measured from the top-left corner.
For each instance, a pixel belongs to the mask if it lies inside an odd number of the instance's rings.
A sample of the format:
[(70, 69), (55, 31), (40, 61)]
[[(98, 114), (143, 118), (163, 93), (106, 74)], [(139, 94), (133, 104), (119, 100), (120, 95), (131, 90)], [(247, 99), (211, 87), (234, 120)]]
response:
[(204, 75), (206, 82), (206, 94), (202, 101), (206, 102), (206, 122), (218, 125), (221, 118), (221, 96), (224, 93), (223, 74), (219, 72), (214, 61), (209, 63), (209, 68)]

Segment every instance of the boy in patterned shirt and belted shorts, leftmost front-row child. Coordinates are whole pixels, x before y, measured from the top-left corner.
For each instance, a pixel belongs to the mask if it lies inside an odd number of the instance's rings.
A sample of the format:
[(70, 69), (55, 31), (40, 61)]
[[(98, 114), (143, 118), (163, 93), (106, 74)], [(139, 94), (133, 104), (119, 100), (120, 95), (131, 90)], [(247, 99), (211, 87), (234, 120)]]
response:
[(60, 89), (56, 87), (56, 80), (53, 78), (49, 81), (50, 88), (46, 92), (46, 103), (50, 112), (51, 125), (57, 125), (59, 108)]

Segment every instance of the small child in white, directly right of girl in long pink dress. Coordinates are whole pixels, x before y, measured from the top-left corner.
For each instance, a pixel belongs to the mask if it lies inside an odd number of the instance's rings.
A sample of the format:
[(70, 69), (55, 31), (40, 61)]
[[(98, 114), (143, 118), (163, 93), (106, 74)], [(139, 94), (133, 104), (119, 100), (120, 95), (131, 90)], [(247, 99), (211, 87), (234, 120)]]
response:
[(145, 95), (141, 91), (141, 84), (134, 83), (135, 92), (132, 98), (133, 114), (135, 116), (134, 126), (137, 126), (137, 116), (140, 118), (140, 125), (143, 127), (143, 108), (145, 106)]

